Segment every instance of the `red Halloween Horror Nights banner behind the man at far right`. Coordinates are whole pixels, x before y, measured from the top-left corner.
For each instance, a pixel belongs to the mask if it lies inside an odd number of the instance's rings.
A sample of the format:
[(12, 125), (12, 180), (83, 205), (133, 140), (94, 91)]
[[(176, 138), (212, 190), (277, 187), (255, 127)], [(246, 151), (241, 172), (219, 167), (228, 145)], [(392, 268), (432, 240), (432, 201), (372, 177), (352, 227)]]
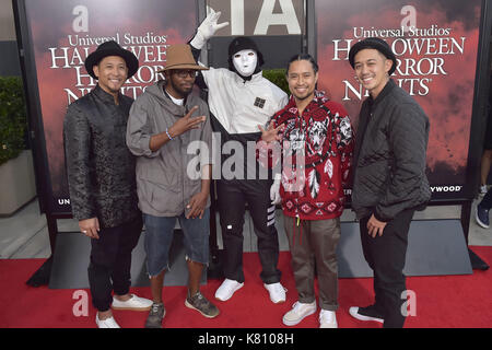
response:
[(431, 121), (427, 176), (433, 198), (465, 198), (481, 7), (481, 0), (315, 4), (319, 86), (345, 106), (355, 126), (367, 92), (347, 60), (350, 47), (372, 36), (391, 47), (398, 60), (393, 79)]

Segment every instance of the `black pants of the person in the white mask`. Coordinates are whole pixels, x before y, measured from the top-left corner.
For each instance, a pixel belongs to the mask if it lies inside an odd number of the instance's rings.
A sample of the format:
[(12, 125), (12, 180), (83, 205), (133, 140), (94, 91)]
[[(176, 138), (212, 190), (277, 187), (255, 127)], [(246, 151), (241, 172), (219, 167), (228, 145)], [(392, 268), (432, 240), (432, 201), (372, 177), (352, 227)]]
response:
[(219, 180), (218, 201), (222, 241), (224, 243), (224, 276), (244, 282), (243, 271), (243, 225), (245, 205), (248, 203), (255, 233), (258, 237), (258, 255), (262, 271), (261, 280), (267, 283), (280, 281), (279, 236), (274, 225), (274, 206), (270, 200), (271, 180)]

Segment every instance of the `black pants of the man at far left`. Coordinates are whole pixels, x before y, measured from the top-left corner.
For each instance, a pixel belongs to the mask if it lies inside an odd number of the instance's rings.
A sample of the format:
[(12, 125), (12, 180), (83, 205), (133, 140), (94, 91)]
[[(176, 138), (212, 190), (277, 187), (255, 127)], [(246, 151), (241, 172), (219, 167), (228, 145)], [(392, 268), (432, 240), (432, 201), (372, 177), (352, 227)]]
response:
[(113, 296), (125, 295), (131, 285), (131, 252), (142, 232), (142, 217), (117, 228), (101, 229), (99, 238), (91, 240), (89, 284), (92, 303), (101, 312), (109, 310)]

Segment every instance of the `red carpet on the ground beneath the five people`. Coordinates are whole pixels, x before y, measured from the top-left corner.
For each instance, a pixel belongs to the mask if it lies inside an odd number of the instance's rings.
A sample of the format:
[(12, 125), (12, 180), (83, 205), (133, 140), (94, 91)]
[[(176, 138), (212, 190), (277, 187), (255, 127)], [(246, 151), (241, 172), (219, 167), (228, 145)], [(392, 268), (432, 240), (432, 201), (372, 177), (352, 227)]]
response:
[[(472, 247), (485, 262), (492, 265), (492, 247)], [(42, 259), (0, 260), (0, 328), (92, 328), (95, 310), (89, 305), (89, 316), (74, 316), (75, 290), (32, 288), (25, 281), (43, 265)], [(167, 328), (286, 328), (282, 315), (296, 301), (290, 254), (281, 253), (279, 268), (282, 283), (289, 290), (288, 301), (273, 305), (259, 279), (259, 260), (255, 253), (244, 255), (245, 287), (229, 302), (216, 305), (221, 314), (208, 319), (184, 305), (186, 288), (166, 287), (164, 303)], [(221, 281), (210, 280), (202, 293), (213, 299)], [(490, 328), (492, 326), (492, 270), (473, 271), (469, 276), (411, 277), (407, 288), (415, 292), (415, 316), (407, 318), (407, 328)], [(89, 290), (85, 290), (89, 293)], [(151, 298), (149, 288), (132, 292)], [(377, 328), (376, 323), (353, 319), (348, 310), (367, 305), (373, 300), (372, 279), (340, 279), (337, 312), (340, 328)], [(141, 328), (147, 313), (115, 311), (121, 327)], [(317, 327), (317, 314), (307, 317), (297, 327)]]

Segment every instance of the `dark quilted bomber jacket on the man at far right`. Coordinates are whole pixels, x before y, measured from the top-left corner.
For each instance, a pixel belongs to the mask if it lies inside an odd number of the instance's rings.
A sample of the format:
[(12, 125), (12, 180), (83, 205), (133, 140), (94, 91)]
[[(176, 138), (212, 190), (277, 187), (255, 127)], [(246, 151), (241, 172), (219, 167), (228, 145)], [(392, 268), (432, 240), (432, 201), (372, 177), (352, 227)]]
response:
[(429, 128), (425, 113), (393, 80), (376, 100), (364, 101), (353, 162), (352, 209), (359, 219), (374, 213), (387, 222), (430, 200)]

